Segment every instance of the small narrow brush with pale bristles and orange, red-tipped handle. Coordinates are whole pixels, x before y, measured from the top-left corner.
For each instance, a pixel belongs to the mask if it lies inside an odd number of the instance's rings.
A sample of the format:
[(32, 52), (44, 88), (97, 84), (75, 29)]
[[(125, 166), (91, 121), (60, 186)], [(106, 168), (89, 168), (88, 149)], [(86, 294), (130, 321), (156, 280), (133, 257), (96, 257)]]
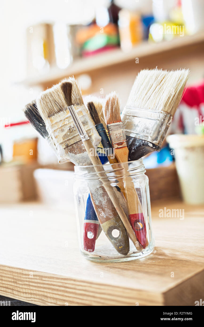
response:
[(134, 182), (132, 181), (132, 178), (128, 176), (127, 161), (129, 150), (127, 147), (124, 126), (120, 116), (120, 103), (118, 95), (115, 92), (112, 92), (110, 95), (106, 96), (103, 112), (106, 119), (111, 144), (115, 150), (115, 157), (120, 163), (123, 163), (122, 167), (125, 171), (123, 182), (129, 221), (138, 242), (143, 249), (145, 249), (148, 245), (145, 219), (142, 213), (140, 200), (135, 190)]

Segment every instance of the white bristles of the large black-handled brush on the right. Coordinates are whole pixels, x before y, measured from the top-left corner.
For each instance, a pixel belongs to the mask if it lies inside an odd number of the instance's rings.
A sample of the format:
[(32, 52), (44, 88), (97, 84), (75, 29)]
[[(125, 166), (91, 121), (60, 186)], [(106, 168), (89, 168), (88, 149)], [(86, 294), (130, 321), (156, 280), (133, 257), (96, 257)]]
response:
[(126, 106), (162, 110), (173, 116), (179, 106), (188, 76), (188, 69), (144, 69), (135, 79)]

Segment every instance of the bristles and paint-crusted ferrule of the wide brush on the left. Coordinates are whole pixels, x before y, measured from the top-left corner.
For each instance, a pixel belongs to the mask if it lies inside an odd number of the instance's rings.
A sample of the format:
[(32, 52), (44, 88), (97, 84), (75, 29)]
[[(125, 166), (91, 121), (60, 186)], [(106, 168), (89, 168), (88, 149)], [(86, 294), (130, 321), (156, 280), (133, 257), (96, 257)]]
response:
[[(97, 148), (101, 138), (83, 103), (76, 80), (74, 77), (69, 77), (66, 81), (69, 81), (73, 88), (73, 92), (70, 91), (71, 95), (68, 97), (69, 101), (72, 101), (72, 98), (74, 99), (76, 111), (83, 121), (94, 148)], [(38, 110), (45, 122), (49, 135), (56, 144), (60, 157), (70, 160), (76, 165), (91, 165), (92, 163), (78, 135), (67, 105), (64, 107), (63, 81), (61, 85), (61, 88), (59, 88), (59, 85), (55, 85), (41, 93), (36, 100)]]

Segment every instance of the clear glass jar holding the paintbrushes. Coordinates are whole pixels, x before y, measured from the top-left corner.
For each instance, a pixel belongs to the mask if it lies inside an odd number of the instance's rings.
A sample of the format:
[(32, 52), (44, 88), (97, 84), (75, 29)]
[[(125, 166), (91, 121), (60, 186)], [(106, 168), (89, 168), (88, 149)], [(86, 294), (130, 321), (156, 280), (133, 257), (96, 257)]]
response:
[[(97, 167), (102, 175), (94, 166), (75, 166), (74, 197), (81, 253), (89, 260), (111, 262), (150, 254), (154, 237), (143, 160)], [(118, 201), (117, 211), (112, 192)]]

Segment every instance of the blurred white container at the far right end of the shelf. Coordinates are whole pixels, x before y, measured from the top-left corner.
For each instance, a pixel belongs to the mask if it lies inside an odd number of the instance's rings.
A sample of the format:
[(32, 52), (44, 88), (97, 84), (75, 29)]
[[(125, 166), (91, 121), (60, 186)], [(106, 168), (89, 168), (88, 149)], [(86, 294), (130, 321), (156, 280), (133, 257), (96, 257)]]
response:
[(204, 1), (182, 0), (182, 13), (189, 34), (204, 30)]

